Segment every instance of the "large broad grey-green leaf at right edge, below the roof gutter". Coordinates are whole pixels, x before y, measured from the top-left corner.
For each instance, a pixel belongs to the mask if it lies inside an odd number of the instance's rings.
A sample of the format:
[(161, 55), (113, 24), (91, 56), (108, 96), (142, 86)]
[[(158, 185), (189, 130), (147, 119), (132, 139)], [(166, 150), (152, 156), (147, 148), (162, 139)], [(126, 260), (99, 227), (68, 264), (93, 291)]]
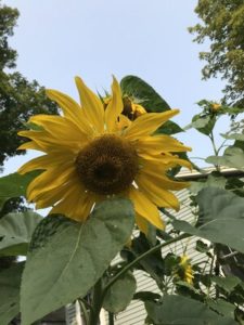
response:
[(196, 227), (175, 220), (175, 229), (244, 252), (244, 198), (226, 190), (207, 187), (196, 200), (200, 206)]

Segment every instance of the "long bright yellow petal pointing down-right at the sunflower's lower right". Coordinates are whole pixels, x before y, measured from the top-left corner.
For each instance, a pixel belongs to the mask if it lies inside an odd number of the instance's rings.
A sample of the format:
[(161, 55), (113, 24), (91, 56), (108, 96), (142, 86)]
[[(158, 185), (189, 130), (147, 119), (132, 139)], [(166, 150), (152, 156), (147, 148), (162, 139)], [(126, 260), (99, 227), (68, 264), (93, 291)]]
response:
[(158, 229), (164, 229), (164, 223), (159, 217), (157, 207), (139, 190), (130, 187), (129, 197), (133, 202), (137, 213), (145, 218)]

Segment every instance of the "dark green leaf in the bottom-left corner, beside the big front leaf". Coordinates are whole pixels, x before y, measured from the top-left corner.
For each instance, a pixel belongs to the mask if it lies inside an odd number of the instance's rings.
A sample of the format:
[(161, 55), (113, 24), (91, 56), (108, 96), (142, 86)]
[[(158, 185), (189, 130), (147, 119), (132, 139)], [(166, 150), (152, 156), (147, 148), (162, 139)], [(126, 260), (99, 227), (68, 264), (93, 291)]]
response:
[(0, 272), (0, 324), (9, 325), (20, 312), (20, 286), (24, 262)]

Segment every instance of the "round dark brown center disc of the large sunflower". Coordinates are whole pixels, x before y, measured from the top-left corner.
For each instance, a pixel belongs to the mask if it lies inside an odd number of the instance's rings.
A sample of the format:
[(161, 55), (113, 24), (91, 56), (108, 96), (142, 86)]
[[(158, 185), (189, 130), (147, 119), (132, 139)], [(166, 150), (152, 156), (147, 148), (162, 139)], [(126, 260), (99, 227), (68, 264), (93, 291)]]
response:
[(76, 168), (87, 190), (118, 194), (133, 182), (139, 169), (138, 155), (129, 142), (105, 134), (79, 152)]

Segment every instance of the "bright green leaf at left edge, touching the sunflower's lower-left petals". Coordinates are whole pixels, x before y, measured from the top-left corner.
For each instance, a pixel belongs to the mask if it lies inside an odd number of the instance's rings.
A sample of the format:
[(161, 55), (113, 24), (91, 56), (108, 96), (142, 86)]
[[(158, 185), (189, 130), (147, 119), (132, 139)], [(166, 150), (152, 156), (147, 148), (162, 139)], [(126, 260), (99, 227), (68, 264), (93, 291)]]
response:
[(0, 178), (0, 208), (11, 197), (25, 196), (28, 184), (37, 174), (36, 171), (24, 176), (15, 172)]

